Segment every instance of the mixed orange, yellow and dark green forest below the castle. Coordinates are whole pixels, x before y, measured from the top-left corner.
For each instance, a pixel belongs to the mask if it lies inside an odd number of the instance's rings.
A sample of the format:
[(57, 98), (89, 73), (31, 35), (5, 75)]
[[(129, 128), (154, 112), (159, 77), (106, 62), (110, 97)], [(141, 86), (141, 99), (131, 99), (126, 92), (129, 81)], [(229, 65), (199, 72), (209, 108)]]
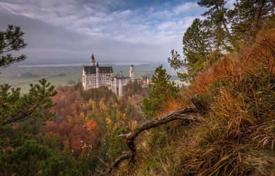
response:
[(134, 108), (140, 102), (131, 101), (131, 95), (138, 99), (147, 94), (136, 83), (127, 86), (122, 99), (103, 86), (87, 91), (82, 84), (58, 88), (46, 112), (53, 116), (1, 128), (1, 175), (96, 174), (123, 149), (113, 136), (142, 120)]

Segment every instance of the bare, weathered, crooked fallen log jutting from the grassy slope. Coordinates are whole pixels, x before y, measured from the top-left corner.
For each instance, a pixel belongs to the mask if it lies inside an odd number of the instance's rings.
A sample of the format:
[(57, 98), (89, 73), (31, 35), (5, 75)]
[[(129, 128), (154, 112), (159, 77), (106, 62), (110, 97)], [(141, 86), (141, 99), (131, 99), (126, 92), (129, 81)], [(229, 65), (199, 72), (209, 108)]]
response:
[(175, 121), (177, 119), (185, 120), (188, 123), (201, 121), (203, 119), (201, 114), (205, 114), (207, 110), (205, 106), (206, 104), (203, 101), (200, 101), (197, 95), (191, 98), (191, 102), (194, 105), (190, 105), (188, 108), (173, 110), (157, 118), (144, 121), (138, 124), (137, 127), (135, 127), (135, 129), (130, 133), (121, 134), (117, 136), (117, 137), (126, 137), (126, 145), (130, 151), (120, 155), (120, 157), (118, 157), (115, 160), (115, 162), (111, 164), (111, 166), (104, 173), (104, 175), (111, 175), (112, 171), (119, 166), (120, 162), (124, 160), (133, 160), (133, 158), (135, 158), (136, 147), (135, 147), (134, 141), (135, 141), (135, 138), (138, 136), (138, 134), (140, 134), (142, 131), (148, 130), (154, 127), (159, 127), (161, 125), (164, 125), (171, 121)]

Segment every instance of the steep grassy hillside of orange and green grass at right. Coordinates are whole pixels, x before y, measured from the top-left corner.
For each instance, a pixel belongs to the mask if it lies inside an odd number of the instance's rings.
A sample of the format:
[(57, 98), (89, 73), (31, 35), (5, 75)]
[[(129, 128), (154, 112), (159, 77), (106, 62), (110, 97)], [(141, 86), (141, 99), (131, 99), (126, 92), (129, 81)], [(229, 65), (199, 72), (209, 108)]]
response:
[(117, 175), (275, 175), (274, 26), (199, 73), (184, 97), (157, 114), (187, 107), (198, 94), (208, 104), (202, 121), (143, 134), (135, 162), (121, 164)]

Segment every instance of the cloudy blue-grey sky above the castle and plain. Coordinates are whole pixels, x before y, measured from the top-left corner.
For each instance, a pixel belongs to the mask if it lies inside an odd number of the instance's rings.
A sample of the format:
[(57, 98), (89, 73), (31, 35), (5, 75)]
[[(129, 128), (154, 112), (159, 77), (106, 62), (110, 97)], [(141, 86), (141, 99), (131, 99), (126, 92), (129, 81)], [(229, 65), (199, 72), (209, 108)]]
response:
[(0, 0), (0, 30), (19, 25), (26, 63), (164, 63), (203, 8), (179, 0)]

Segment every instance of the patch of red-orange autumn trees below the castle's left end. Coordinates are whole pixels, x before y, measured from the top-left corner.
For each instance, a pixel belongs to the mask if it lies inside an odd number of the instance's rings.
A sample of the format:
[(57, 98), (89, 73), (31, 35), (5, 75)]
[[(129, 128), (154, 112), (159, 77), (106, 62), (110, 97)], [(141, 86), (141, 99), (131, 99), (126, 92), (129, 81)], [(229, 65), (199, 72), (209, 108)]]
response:
[(76, 156), (85, 152), (87, 147), (96, 149), (100, 142), (98, 125), (93, 120), (85, 123), (80, 116), (85, 101), (79, 90), (74, 86), (61, 88), (52, 100), (56, 106), (51, 111), (56, 112), (56, 116), (54, 121), (47, 121), (47, 125), (41, 127), (41, 133), (48, 133), (50, 138), (58, 134), (62, 146), (71, 147)]

